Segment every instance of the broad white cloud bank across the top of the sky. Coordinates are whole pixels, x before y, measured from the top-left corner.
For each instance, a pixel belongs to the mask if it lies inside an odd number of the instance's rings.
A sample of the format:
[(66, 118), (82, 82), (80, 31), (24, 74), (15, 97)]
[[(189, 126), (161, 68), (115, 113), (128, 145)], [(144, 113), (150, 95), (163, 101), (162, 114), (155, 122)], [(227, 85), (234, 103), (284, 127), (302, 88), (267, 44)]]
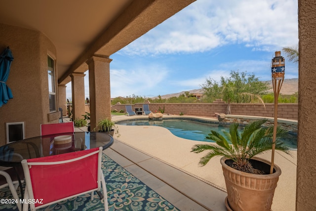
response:
[(228, 43), (253, 50), (298, 42), (297, 0), (197, 0), (122, 51), (126, 54), (204, 52)]

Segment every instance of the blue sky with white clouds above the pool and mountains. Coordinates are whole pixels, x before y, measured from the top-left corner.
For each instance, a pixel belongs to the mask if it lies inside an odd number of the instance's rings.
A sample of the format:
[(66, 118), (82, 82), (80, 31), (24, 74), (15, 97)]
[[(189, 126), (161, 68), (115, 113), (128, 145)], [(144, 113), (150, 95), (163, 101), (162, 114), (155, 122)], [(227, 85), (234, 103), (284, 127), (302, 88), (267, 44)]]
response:
[(199, 89), (231, 71), (269, 81), (275, 51), (285, 57), (285, 79), (298, 78), (298, 65), (282, 53), (297, 45), (297, 0), (197, 0), (110, 56), (111, 97)]

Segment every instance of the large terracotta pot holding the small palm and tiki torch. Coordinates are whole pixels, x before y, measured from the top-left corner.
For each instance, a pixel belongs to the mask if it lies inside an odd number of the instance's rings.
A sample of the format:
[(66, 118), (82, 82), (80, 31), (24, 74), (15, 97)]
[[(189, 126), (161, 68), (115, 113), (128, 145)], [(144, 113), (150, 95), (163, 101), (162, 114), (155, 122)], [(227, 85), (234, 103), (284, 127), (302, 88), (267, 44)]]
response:
[(271, 163), (255, 158), (250, 160), (252, 166), (268, 174), (251, 174), (229, 167), (232, 162), (225, 157), (221, 159), (228, 195), (225, 199), (227, 210), (270, 211), (281, 169), (274, 165), (274, 173), (269, 174)]

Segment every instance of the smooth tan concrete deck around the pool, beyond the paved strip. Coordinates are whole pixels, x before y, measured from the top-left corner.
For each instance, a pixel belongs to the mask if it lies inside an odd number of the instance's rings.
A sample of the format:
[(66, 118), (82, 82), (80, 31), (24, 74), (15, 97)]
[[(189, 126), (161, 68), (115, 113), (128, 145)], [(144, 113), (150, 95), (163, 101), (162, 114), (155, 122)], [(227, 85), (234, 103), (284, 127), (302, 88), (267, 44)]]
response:
[[(135, 118), (146, 119), (148, 117), (113, 116), (112, 121)], [(213, 118), (202, 119), (214, 120)], [(197, 141), (174, 136), (168, 129), (163, 127), (121, 125), (117, 125), (117, 127), (120, 136), (116, 137), (115, 135), (115, 138), (119, 142), (146, 155), (150, 155), (175, 169), (182, 170), (201, 181), (206, 181), (219, 190), (226, 191), (223, 171), (219, 162), (220, 157), (213, 158), (205, 167), (199, 167), (198, 161), (202, 153), (196, 154), (190, 152), (192, 146), (198, 143)], [(297, 151), (292, 151), (291, 155), (292, 157), (278, 151), (275, 154), (275, 163), (281, 168), (282, 173), (279, 177), (273, 199), (272, 210), (274, 211), (295, 211)], [(269, 161), (271, 160), (271, 152), (262, 154), (259, 157)], [(204, 194), (208, 195), (209, 193)], [(212, 200), (212, 197), (209, 200)]]

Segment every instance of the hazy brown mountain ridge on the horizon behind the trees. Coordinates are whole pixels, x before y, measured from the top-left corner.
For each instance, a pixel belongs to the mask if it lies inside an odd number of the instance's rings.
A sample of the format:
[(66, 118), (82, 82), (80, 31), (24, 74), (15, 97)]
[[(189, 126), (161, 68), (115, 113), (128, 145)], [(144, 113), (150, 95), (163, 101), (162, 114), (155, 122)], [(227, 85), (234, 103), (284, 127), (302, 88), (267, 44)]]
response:
[[(272, 86), (272, 80), (271, 81), (266, 81), (265, 83), (269, 84), (270, 89), (269, 92), (273, 92), (273, 86)], [(203, 93), (203, 89), (192, 89), (188, 90), (191, 94), (199, 94)], [(294, 94), (295, 92), (298, 92), (298, 79), (285, 79), (280, 93), (281, 94)], [(181, 94), (184, 94), (185, 91), (181, 91), (179, 93), (173, 93), (173, 94), (165, 94), (165, 95), (160, 95), (162, 99), (167, 99), (170, 97), (179, 97)], [(156, 99), (157, 97), (151, 97), (152, 99)]]

